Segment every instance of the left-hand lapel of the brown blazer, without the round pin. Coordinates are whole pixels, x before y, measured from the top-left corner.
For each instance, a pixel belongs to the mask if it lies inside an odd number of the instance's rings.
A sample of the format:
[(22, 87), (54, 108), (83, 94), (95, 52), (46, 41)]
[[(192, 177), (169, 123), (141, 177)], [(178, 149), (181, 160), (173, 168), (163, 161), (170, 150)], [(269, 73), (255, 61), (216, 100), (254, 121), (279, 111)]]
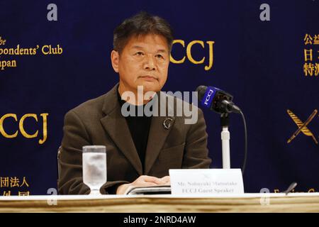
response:
[[(103, 112), (106, 114), (101, 118), (103, 128), (107, 131), (117, 147), (122, 151), (125, 157), (130, 161), (139, 175), (142, 175), (142, 163), (135, 148), (133, 138), (130, 135), (128, 124), (121, 114), (121, 106), (118, 103), (117, 84), (106, 95)], [(106, 148), (107, 152), (107, 148)]]

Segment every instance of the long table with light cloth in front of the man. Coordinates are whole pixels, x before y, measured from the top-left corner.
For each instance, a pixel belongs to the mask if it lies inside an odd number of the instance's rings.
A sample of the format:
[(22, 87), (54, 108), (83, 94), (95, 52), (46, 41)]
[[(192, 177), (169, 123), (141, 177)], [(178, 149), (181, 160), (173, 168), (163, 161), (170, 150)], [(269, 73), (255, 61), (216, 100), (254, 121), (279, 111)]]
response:
[(0, 212), (319, 212), (319, 193), (0, 196)]

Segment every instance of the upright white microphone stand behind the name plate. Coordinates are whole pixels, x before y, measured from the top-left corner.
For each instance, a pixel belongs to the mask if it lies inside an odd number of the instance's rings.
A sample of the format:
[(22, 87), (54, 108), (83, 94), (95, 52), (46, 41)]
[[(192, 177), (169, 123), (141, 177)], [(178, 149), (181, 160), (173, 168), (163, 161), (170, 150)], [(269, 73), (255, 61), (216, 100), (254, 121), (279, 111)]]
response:
[(228, 113), (220, 114), (220, 125), (223, 128), (223, 131), (220, 133), (223, 151), (223, 169), (230, 169), (230, 132), (228, 131)]

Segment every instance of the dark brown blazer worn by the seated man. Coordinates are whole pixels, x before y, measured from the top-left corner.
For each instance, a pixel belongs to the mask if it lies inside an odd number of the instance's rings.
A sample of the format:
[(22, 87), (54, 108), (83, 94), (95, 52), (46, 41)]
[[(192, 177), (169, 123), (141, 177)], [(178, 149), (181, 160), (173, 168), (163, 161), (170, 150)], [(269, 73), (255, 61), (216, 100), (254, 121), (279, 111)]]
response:
[[(209, 167), (211, 159), (208, 157), (203, 112), (191, 106), (198, 110), (198, 121), (194, 124), (185, 124), (186, 116), (174, 114), (169, 117), (172, 122), (167, 129), (163, 125), (166, 116), (152, 116), (143, 171), (130, 130), (121, 114), (117, 88), (118, 84), (108, 93), (84, 102), (65, 115), (59, 160), (60, 194), (89, 193), (89, 187), (82, 181), (84, 145), (106, 146), (107, 182), (101, 187), (102, 194), (114, 194), (118, 185), (133, 182), (140, 175), (164, 177), (169, 175), (169, 169)], [(162, 93), (158, 92), (159, 96)], [(172, 111), (172, 106), (168, 109)]]

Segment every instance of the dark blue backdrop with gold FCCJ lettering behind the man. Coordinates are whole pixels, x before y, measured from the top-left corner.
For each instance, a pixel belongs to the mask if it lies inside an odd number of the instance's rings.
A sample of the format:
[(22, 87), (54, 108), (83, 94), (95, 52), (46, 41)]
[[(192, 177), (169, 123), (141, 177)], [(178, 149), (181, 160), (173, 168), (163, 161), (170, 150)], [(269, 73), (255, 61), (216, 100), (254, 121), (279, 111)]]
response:
[[(50, 3), (57, 6), (57, 21), (47, 20)], [(259, 18), (263, 3), (270, 6), (270, 21)], [(244, 111), (245, 192), (265, 187), (283, 191), (291, 182), (298, 182), (296, 192), (318, 192), (318, 1), (1, 0), (0, 44), (6, 41), (0, 45), (0, 195), (47, 194), (57, 187), (64, 115), (118, 82), (110, 60), (113, 29), (141, 10), (166, 18), (175, 39), (184, 41), (184, 47), (181, 41), (174, 45), (172, 57), (185, 56), (185, 61), (171, 62), (163, 91), (191, 92), (198, 85), (212, 85), (233, 94)], [(187, 55), (194, 40), (203, 41), (203, 47), (194, 44)], [(215, 42), (213, 66), (205, 70), (209, 41)], [(45, 54), (49, 45), (59, 45), (62, 53)], [(31, 50), (10, 55), (10, 48)], [(190, 56), (205, 60), (194, 64)], [(296, 123), (305, 123), (312, 113), (307, 128), (287, 143)], [(220, 168), (219, 116), (204, 114), (211, 167)], [(230, 121), (231, 165), (241, 167), (244, 129), (239, 115)]]

